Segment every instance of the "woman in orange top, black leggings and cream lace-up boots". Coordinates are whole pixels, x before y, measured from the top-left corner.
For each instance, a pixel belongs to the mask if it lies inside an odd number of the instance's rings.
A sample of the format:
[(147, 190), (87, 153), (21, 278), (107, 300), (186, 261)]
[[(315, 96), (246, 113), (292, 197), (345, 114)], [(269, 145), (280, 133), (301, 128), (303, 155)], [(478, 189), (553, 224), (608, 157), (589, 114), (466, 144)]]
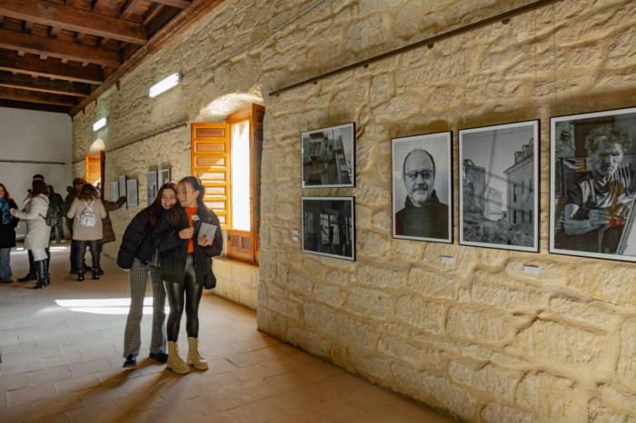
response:
[[(204, 195), (201, 181), (194, 176), (182, 179), (177, 185), (179, 206), (164, 212), (153, 232), (170, 304), (167, 368), (179, 374), (188, 373), (188, 365), (200, 370), (208, 368), (198, 350), (199, 302), (204, 287), (212, 289), (216, 283), (212, 258), (223, 250), (223, 234), (219, 218), (204, 204)], [(211, 240), (199, 237), (203, 223), (216, 226)], [(185, 362), (176, 347), (184, 309), (189, 348)]]

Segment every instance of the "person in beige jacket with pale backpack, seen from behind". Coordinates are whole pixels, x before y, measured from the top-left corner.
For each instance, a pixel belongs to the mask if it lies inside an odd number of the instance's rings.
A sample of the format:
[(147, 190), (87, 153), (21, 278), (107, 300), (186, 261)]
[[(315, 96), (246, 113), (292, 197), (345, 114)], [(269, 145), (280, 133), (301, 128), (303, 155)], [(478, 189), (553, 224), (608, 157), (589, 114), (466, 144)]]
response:
[(84, 280), (84, 254), (86, 246), (93, 257), (93, 279), (99, 279), (99, 244), (102, 239), (102, 219), (106, 217), (104, 204), (90, 183), (84, 183), (82, 189), (66, 213), (73, 219), (73, 241), (75, 242), (75, 267), (77, 280)]

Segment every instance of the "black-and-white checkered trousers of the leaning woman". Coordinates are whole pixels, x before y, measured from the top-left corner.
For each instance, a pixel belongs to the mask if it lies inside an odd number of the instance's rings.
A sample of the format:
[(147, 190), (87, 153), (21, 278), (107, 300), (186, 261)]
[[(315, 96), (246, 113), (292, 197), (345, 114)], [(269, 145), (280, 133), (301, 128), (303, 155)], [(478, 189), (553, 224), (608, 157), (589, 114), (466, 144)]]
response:
[(150, 352), (167, 353), (164, 325), (165, 290), (161, 280), (161, 272), (154, 266), (144, 265), (141, 261), (134, 259), (133, 267), (130, 269), (130, 310), (124, 332), (124, 357), (128, 357), (130, 354), (139, 355), (148, 273), (150, 273), (150, 280), (153, 283), (153, 336), (150, 341)]

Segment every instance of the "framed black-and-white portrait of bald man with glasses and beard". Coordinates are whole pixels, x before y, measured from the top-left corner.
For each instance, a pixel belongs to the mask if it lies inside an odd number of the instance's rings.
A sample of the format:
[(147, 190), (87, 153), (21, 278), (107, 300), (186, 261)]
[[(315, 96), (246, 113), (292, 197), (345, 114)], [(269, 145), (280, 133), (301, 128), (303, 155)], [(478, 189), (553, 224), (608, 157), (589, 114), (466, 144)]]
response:
[(452, 132), (391, 140), (393, 238), (452, 242)]

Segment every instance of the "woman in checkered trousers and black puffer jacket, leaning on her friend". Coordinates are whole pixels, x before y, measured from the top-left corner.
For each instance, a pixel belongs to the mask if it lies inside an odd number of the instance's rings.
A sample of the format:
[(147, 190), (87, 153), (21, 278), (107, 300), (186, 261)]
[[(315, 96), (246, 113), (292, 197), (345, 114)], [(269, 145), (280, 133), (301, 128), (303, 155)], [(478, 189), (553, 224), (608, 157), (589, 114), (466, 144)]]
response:
[(138, 212), (124, 231), (117, 254), (117, 265), (130, 269), (130, 310), (124, 332), (124, 368), (137, 364), (141, 348), (141, 321), (144, 314), (145, 286), (148, 274), (153, 283), (153, 336), (150, 358), (165, 363), (168, 354), (165, 344), (165, 290), (159, 271), (158, 253), (154, 248), (153, 231), (165, 211), (176, 204), (174, 183), (165, 183), (154, 202)]

